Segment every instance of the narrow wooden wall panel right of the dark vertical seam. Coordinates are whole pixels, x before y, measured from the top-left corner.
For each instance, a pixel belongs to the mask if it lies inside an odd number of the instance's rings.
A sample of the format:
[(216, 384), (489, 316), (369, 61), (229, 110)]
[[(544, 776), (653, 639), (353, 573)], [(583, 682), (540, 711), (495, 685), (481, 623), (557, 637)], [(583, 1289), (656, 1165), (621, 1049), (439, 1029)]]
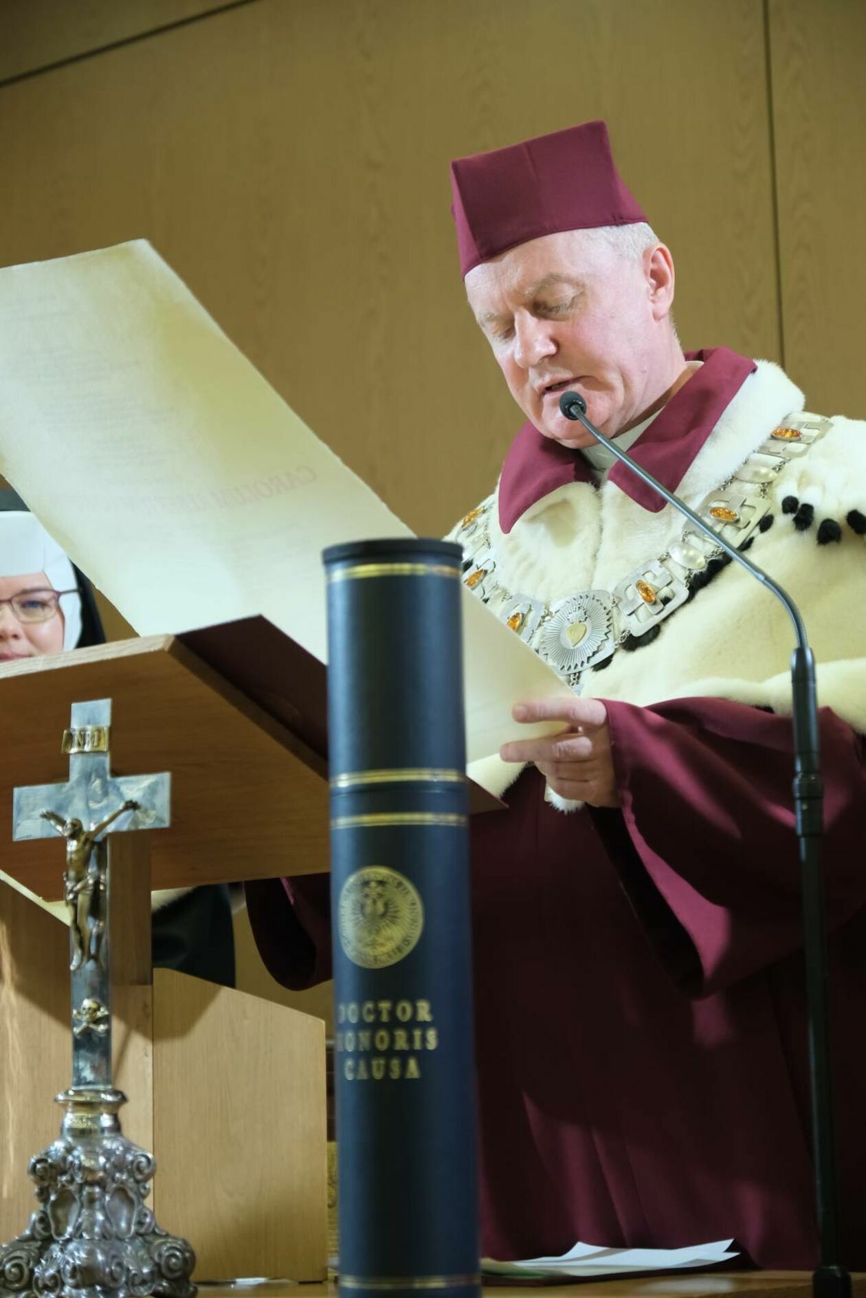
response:
[(811, 410), (866, 417), (866, 5), (770, 0), (786, 365)]

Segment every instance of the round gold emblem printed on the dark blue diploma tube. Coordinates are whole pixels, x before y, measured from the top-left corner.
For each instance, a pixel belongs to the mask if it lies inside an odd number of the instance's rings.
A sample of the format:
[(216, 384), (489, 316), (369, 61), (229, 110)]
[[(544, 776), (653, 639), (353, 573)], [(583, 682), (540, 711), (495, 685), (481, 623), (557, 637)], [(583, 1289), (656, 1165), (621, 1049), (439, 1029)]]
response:
[(343, 884), (338, 906), (340, 946), (365, 970), (399, 964), (425, 927), (421, 894), (388, 866), (365, 866)]

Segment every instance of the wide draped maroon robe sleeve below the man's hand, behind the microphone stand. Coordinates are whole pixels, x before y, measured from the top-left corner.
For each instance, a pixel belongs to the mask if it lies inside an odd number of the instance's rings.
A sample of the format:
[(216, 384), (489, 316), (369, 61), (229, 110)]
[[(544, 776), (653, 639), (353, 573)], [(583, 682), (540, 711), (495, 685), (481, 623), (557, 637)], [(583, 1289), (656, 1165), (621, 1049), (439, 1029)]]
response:
[[(708, 996), (802, 942), (791, 719), (719, 698), (605, 700), (621, 813), (593, 813), (669, 971)], [(866, 902), (863, 741), (822, 709), (830, 931)]]

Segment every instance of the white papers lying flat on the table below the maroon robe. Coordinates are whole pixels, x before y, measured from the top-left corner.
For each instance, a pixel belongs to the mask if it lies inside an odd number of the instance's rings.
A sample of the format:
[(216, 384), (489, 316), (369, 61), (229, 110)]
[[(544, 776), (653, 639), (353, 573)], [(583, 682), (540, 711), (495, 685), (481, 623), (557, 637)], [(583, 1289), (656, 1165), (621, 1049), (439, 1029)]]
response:
[(592, 1276), (630, 1275), (645, 1271), (679, 1271), (688, 1267), (709, 1267), (739, 1256), (730, 1253), (732, 1240), (717, 1243), (699, 1243), (688, 1249), (605, 1249), (595, 1243), (575, 1243), (561, 1258), (528, 1258), (526, 1262), (493, 1262), (482, 1259), (482, 1271), (492, 1276), (514, 1279), (586, 1279)]

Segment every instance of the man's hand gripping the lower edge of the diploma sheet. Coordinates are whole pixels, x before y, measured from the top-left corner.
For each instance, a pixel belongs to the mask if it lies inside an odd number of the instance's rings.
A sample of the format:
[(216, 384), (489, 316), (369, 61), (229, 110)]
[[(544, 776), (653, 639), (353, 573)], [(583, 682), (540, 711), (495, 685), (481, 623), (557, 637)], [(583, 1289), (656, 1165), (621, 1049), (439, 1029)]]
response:
[(504, 744), (504, 762), (534, 762), (562, 798), (593, 807), (619, 806), (608, 709), (600, 698), (540, 698), (517, 704), (512, 715), (515, 722), (567, 722), (569, 729)]

